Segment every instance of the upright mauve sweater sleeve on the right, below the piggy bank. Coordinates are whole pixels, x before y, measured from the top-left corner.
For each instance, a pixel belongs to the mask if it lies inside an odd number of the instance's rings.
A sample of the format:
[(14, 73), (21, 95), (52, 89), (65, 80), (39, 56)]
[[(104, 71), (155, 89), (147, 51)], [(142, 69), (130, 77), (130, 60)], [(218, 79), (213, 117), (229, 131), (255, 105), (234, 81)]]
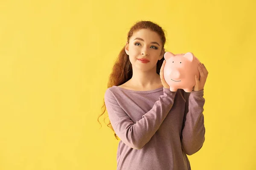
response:
[(186, 107), (181, 136), (182, 149), (192, 155), (201, 149), (204, 143), (204, 89), (185, 93)]

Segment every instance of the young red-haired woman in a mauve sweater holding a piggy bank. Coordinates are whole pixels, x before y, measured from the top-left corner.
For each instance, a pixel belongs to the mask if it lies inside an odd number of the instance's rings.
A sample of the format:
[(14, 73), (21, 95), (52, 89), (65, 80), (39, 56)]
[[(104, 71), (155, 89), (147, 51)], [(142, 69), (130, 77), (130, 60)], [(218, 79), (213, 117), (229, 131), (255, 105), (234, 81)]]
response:
[(191, 93), (170, 91), (163, 78), (165, 42), (160, 26), (137, 22), (113, 66), (103, 107), (120, 139), (117, 170), (190, 170), (187, 155), (203, 146), (208, 71), (200, 64)]

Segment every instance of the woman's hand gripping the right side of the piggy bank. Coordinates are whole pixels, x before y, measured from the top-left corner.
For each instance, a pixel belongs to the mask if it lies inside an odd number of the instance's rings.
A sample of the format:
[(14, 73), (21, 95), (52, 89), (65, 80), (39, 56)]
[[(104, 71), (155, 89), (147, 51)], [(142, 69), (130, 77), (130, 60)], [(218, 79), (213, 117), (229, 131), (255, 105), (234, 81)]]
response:
[(202, 64), (201, 62), (198, 66), (198, 71), (200, 74), (200, 79), (198, 77), (196, 77), (196, 75), (195, 75), (195, 86), (194, 86), (193, 91), (203, 90), (207, 76), (208, 76), (208, 71), (207, 71), (206, 67), (204, 66), (204, 64)]

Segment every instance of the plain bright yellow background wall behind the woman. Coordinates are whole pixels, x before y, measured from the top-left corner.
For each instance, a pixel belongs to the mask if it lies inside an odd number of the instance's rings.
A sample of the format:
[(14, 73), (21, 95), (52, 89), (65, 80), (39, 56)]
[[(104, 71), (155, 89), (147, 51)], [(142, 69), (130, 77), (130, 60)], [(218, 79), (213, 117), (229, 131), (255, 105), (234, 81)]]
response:
[[(255, 0), (0, 0), (0, 170), (114, 170), (101, 113), (129, 28), (151, 20), (166, 51), (209, 71), (193, 170), (256, 169)], [(108, 122), (108, 118), (106, 119)]]

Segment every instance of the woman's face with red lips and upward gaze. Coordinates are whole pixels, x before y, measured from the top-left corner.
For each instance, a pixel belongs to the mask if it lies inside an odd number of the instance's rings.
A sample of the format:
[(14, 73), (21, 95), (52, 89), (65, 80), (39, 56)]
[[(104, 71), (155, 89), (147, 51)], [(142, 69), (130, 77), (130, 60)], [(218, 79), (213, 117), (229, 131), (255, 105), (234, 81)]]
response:
[[(133, 36), (125, 45), (125, 52), (129, 55), (132, 66), (143, 71), (156, 67), (157, 61), (163, 58), (162, 41), (160, 36), (149, 29), (140, 29), (134, 32)], [(140, 62), (141, 58), (148, 59), (149, 62)]]

